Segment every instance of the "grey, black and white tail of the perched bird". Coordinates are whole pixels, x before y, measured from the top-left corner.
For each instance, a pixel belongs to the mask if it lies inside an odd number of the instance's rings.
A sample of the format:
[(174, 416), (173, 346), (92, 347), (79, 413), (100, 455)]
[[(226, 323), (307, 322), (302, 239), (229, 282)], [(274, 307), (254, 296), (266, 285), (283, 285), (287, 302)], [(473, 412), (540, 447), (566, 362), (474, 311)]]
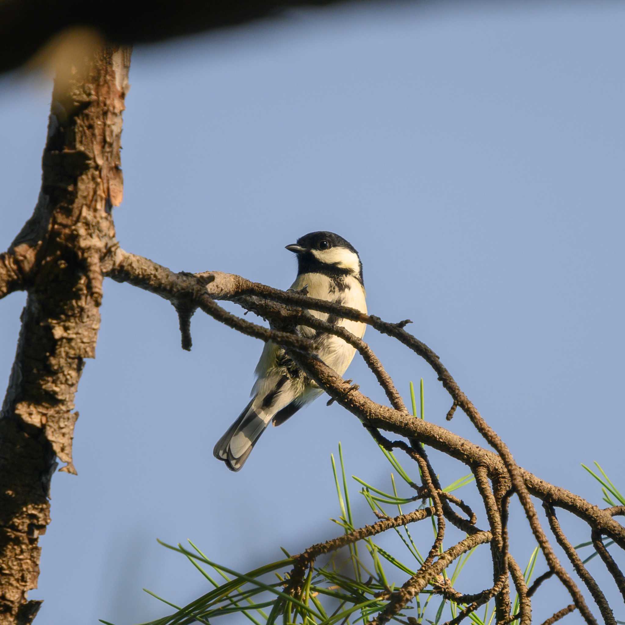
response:
[(271, 422), (272, 414), (254, 407), (254, 399), (256, 397), (247, 404), (212, 450), (214, 456), (226, 462), (231, 471), (241, 469), (256, 441)]

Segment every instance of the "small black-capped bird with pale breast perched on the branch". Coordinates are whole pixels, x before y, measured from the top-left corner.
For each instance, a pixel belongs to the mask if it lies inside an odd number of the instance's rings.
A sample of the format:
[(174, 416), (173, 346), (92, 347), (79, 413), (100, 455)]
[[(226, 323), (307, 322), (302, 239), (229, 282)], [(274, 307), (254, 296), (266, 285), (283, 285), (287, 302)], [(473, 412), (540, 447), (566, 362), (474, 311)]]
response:
[[(286, 249), (297, 255), (297, 277), (291, 289), (307, 287), (308, 295), (367, 312), (362, 263), (358, 252), (334, 232), (311, 232)], [(309, 311), (337, 326), (364, 335), (366, 324), (341, 319), (326, 312)], [(342, 376), (356, 351), (334, 334), (298, 326), (302, 336), (314, 340), (315, 351)], [(226, 462), (231, 471), (239, 471), (270, 422), (284, 423), (322, 394), (322, 390), (287, 356), (284, 349), (267, 341), (256, 366), (257, 380), (251, 401), (228, 428), (213, 449), (214, 456)]]

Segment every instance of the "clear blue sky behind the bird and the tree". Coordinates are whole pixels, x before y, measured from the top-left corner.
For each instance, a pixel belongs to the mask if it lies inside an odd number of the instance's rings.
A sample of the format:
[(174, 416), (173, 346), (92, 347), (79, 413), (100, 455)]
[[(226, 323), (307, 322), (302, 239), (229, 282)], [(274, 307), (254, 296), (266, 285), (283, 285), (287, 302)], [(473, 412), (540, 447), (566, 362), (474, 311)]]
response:
[[(622, 2), (383, 2), (138, 47), (119, 240), (176, 271), (287, 287), (284, 245), (338, 232), (361, 254), (369, 310), (414, 321), (522, 466), (601, 504), (581, 462), (625, 489), (623, 32)], [(3, 249), (39, 191), (50, 89), (0, 81)], [(0, 303), (5, 380), (23, 302)], [(359, 422), (322, 400), (232, 474), (212, 446), (248, 401), (261, 343), (198, 313), (183, 352), (173, 308), (112, 281), (102, 316), (76, 398), (79, 475), (53, 479), (37, 622), (131, 625), (166, 613), (142, 587), (180, 604), (205, 592), (156, 537), (247, 570), (334, 536), (339, 440), (348, 472), (388, 487)], [(445, 424), (449, 397), (424, 362), (366, 339), (406, 395), (424, 378), (426, 418)], [(382, 400), (362, 362), (349, 377)], [(450, 427), (481, 442), (462, 414)], [(432, 460), (444, 483), (466, 472)], [(524, 563), (534, 543), (514, 512)], [(431, 528), (412, 534), (425, 544)], [(462, 590), (480, 589), (486, 560)], [(625, 621), (599, 559), (589, 567)], [(549, 583), (536, 622), (569, 602)]]

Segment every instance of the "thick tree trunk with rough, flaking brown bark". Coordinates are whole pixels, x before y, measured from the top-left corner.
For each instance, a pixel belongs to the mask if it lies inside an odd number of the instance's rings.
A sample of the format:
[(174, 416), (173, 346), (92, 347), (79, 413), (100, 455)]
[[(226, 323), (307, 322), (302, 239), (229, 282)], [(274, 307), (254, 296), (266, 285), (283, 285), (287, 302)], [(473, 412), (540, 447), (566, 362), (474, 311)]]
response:
[(54, 84), (42, 186), (31, 219), (0, 258), (0, 297), (28, 292), (0, 416), (0, 625), (32, 622), (38, 537), (50, 521), (58, 458), (76, 473), (74, 394), (93, 358), (103, 271), (117, 242), (120, 141), (128, 49), (98, 49)]

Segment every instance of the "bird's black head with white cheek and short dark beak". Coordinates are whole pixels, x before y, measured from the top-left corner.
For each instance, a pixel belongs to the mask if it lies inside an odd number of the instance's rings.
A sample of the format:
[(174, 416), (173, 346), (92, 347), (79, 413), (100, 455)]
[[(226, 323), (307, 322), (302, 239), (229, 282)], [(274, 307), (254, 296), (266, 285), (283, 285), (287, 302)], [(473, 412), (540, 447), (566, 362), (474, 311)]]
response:
[(286, 249), (297, 254), (298, 274), (354, 276), (362, 283), (362, 263), (352, 244), (334, 232), (309, 232)]

